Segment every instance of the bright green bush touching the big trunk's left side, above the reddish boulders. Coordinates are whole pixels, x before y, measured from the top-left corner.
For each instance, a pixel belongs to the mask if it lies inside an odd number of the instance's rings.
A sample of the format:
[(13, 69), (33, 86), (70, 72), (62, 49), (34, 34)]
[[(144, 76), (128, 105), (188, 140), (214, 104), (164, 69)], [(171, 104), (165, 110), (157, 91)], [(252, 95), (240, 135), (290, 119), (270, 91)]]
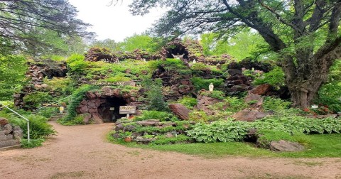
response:
[(285, 75), (281, 67), (275, 67), (274, 70), (266, 72), (264, 77), (254, 80), (255, 85), (262, 85), (268, 83), (274, 87), (280, 87), (285, 84)]

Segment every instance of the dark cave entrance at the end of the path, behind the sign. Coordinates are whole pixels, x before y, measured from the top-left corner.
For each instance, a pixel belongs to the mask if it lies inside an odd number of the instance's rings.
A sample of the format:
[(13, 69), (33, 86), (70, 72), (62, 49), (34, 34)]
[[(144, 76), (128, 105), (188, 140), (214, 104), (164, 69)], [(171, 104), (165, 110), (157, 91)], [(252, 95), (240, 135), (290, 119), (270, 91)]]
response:
[(126, 116), (119, 114), (119, 107), (126, 106), (126, 101), (120, 97), (106, 97), (105, 102), (100, 104), (98, 114), (102, 116), (104, 122), (116, 122), (117, 119)]

